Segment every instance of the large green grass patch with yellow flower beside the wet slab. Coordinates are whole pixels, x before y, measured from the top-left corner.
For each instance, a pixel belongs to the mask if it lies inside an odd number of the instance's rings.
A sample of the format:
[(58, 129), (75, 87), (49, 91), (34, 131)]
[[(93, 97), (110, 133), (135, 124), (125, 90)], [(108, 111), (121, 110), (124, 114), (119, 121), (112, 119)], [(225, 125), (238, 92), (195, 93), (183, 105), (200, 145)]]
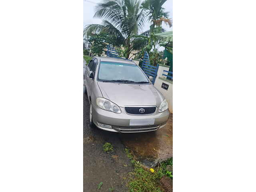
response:
[[(130, 192), (162, 192), (160, 186), (160, 180), (163, 176), (169, 176), (172, 178), (172, 172), (168, 170), (172, 166), (172, 158), (160, 163), (152, 172), (148, 168), (145, 168), (138, 161), (134, 160), (134, 157), (128, 149), (125, 152), (130, 158), (131, 163), (134, 165), (134, 171), (132, 172), (132, 178), (129, 180)], [(171, 174), (170, 174), (171, 173)]]

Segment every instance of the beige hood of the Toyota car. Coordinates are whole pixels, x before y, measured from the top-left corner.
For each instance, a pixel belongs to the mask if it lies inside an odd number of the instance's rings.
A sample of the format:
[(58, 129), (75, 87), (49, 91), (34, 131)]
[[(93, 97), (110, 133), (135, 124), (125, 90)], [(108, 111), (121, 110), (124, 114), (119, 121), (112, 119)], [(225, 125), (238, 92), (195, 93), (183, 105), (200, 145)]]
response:
[(120, 107), (160, 106), (164, 96), (152, 84), (125, 84), (98, 82), (104, 98)]

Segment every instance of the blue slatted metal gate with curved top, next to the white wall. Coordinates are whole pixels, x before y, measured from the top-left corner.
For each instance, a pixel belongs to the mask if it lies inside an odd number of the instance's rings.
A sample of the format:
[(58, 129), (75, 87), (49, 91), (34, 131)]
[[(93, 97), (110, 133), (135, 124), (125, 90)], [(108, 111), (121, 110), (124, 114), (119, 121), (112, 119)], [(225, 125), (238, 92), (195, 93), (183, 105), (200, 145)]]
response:
[(148, 52), (145, 51), (143, 62), (142, 62), (142, 70), (146, 73), (148, 77), (149, 76), (153, 77), (152, 84), (155, 83), (158, 67), (159, 67), (158, 64), (157, 66), (150, 65)]

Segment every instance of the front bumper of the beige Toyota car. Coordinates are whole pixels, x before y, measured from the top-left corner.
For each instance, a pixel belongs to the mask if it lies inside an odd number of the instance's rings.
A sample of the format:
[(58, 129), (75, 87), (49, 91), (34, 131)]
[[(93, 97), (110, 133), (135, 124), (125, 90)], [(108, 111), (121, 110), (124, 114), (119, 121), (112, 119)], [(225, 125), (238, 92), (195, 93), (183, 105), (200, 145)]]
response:
[[(150, 115), (130, 115), (126, 113), (124, 108), (120, 107), (120, 109), (122, 112), (120, 114), (117, 114), (114, 112), (103, 110), (98, 106), (92, 105), (92, 120), (94, 124), (102, 130), (121, 133), (134, 133), (156, 131), (166, 125), (166, 122), (170, 115), (169, 110), (159, 113), (158, 107), (156, 108), (156, 112)], [(150, 121), (150, 124), (131, 125), (131, 120), (148, 120)], [(111, 125), (112, 128), (104, 128), (98, 123)]]

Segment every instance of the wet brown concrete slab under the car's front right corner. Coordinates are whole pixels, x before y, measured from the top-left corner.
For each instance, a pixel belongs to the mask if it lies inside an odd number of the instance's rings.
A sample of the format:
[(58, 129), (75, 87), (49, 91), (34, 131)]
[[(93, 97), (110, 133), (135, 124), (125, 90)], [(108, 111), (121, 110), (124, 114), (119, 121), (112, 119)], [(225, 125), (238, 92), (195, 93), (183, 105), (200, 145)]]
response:
[(120, 134), (120, 139), (136, 160), (147, 167), (154, 167), (172, 157), (172, 114), (166, 126), (156, 132)]

